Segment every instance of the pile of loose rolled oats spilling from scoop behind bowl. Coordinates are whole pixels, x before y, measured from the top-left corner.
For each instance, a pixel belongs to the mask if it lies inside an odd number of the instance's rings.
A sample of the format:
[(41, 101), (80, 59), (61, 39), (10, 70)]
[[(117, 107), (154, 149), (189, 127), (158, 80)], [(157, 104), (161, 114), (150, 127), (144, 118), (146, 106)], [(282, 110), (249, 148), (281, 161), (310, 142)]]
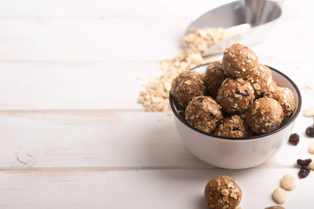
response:
[(172, 79), (183, 71), (203, 64), (202, 53), (228, 34), (229, 32), (222, 28), (197, 29), (187, 34), (183, 38), (183, 44), (187, 46), (184, 53), (172, 60), (161, 61), (160, 68), (163, 75), (154, 78), (149, 84), (143, 85), (145, 91), (140, 92), (138, 102), (145, 107), (146, 111), (167, 112), (168, 115), (172, 115), (169, 106)]

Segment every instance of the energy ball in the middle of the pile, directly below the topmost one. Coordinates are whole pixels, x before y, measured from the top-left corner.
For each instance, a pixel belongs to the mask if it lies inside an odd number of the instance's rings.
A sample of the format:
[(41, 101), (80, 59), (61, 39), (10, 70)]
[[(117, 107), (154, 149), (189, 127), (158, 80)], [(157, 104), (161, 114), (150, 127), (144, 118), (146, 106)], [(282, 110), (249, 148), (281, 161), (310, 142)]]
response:
[(218, 90), (217, 102), (227, 113), (241, 114), (249, 108), (254, 98), (250, 81), (227, 78)]

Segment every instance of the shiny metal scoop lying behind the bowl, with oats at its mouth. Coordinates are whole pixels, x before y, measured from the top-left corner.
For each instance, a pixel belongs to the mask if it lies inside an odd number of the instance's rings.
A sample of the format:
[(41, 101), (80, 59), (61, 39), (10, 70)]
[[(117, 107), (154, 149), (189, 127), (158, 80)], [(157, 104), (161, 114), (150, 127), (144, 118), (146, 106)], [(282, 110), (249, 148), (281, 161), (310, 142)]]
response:
[(187, 33), (199, 28), (222, 27), (230, 36), (207, 49), (203, 56), (221, 54), (234, 43), (245, 46), (264, 41), (282, 13), (281, 7), (296, 0), (242, 0), (212, 9), (194, 20)]

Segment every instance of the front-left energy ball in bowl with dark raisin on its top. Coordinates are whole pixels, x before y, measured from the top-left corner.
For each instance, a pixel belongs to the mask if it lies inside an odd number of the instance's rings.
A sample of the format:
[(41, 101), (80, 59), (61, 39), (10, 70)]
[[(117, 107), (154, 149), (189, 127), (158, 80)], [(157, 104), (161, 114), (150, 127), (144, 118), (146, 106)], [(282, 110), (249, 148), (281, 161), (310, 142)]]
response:
[(185, 109), (185, 119), (191, 126), (211, 133), (223, 118), (221, 106), (210, 96), (194, 97)]

